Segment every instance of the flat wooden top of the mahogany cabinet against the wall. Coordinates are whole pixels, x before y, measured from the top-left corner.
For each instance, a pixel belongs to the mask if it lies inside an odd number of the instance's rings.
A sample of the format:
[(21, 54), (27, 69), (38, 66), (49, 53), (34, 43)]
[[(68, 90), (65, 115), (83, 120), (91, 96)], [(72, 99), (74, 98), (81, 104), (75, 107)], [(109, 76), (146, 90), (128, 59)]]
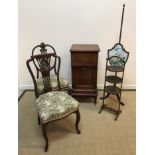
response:
[(97, 44), (73, 44), (70, 49), (71, 52), (99, 52), (100, 48)]

